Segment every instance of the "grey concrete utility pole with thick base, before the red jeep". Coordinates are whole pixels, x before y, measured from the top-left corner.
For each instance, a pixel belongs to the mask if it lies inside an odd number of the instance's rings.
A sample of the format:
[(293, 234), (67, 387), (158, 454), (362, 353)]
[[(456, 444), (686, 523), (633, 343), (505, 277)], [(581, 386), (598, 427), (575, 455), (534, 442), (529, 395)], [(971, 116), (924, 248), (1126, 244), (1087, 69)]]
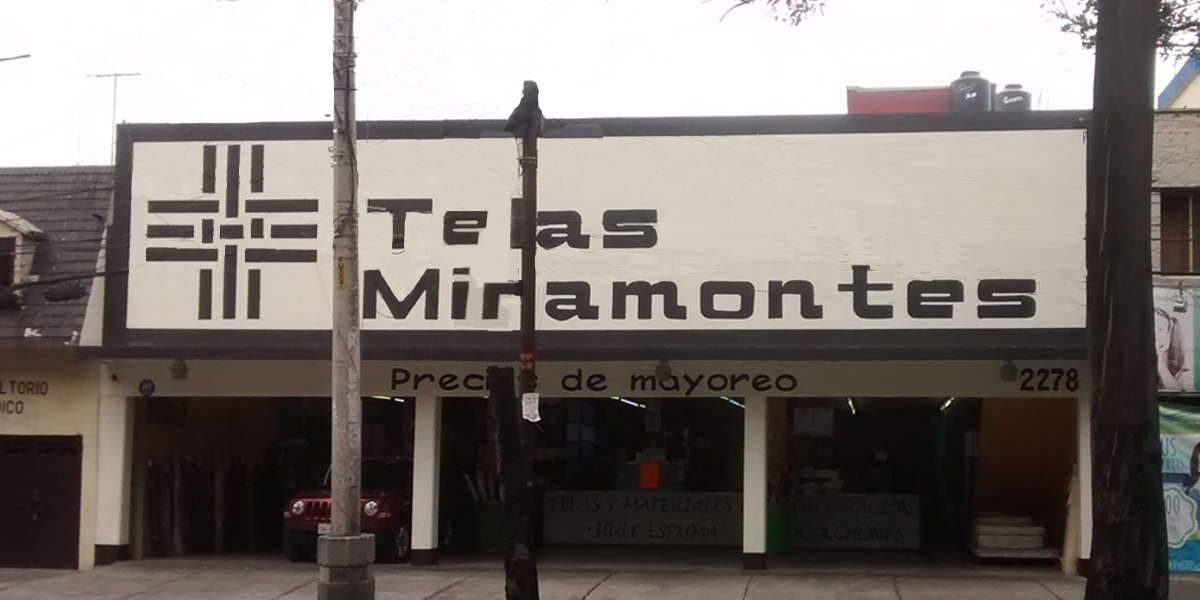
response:
[(317, 542), (320, 600), (374, 598), (374, 536), (362, 534), (355, 0), (334, 0), (334, 336), (330, 532)]

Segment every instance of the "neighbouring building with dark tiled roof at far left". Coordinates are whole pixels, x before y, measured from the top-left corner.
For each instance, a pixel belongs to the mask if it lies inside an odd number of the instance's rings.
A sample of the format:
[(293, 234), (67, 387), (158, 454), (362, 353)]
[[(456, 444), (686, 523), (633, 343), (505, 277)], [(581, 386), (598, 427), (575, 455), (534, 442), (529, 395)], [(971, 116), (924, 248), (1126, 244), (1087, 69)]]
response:
[(102, 370), (76, 348), (112, 196), (109, 167), (0, 169), (0, 568), (97, 554)]

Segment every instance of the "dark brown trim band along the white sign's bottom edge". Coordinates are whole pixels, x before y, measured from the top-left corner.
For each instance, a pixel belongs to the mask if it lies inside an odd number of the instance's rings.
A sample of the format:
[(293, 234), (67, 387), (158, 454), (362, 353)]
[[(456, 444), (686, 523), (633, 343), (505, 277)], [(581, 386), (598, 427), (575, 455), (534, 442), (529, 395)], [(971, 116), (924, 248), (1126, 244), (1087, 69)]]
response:
[[(1084, 329), (540, 331), (539, 359), (590, 360), (1084, 360)], [(131, 330), (128, 346), (85, 358), (328, 360), (324, 330)], [(514, 331), (362, 332), (365, 360), (508, 361)]]

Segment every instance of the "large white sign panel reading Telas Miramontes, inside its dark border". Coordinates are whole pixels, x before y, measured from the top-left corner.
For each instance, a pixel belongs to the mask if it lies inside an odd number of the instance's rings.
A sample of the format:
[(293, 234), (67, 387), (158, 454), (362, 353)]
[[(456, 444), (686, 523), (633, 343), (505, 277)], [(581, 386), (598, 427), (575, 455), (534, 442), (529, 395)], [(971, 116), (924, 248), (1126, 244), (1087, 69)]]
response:
[[(319, 330), (330, 143), (133, 149), (131, 330)], [(364, 326), (512, 330), (512, 139), (360, 144)], [(544, 139), (542, 330), (1082, 328), (1081, 130)]]

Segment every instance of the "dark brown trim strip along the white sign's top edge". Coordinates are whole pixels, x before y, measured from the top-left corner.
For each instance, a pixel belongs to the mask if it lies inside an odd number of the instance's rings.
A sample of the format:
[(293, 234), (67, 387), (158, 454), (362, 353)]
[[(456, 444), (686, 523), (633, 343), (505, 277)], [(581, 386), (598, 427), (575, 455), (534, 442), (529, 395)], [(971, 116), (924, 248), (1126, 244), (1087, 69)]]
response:
[[(1082, 130), (1087, 110), (550, 119), (545, 137), (769, 136), (925, 131)], [(359, 139), (511, 138), (505, 121), (360, 121)], [(332, 139), (329, 122), (136, 124), (137, 142)]]

